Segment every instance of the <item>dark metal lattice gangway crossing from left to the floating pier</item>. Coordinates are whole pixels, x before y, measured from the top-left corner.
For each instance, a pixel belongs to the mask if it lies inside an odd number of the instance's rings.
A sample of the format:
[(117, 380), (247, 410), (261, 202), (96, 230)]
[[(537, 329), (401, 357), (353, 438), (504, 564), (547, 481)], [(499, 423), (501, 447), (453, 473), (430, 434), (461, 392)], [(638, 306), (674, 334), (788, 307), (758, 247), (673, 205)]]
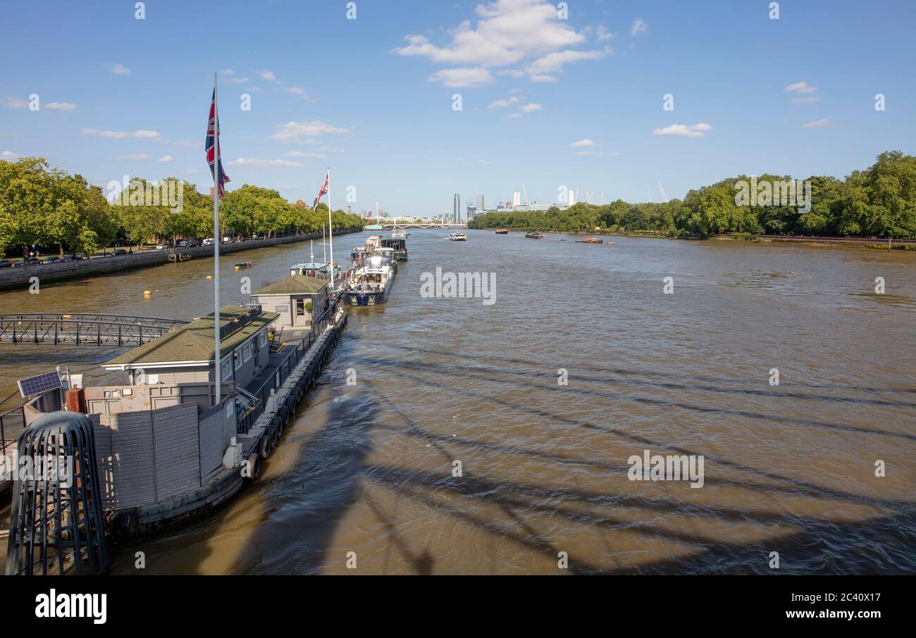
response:
[(0, 344), (142, 345), (190, 323), (130, 315), (26, 312), (0, 314)]

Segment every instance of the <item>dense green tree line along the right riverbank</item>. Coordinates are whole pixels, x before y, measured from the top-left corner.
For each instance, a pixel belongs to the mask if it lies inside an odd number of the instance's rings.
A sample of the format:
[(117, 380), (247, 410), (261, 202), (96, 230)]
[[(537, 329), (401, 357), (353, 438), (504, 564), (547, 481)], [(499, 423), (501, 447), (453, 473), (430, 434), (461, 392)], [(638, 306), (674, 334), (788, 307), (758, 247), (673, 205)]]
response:
[[(916, 239), (916, 157), (900, 151), (878, 155), (875, 163), (845, 179), (812, 176), (801, 180), (797, 202), (777, 197), (790, 176), (740, 175), (691, 190), (683, 200), (603, 206), (579, 202), (548, 211), (486, 212), (469, 228), (519, 231), (658, 232), (670, 237), (709, 237), (721, 232), (805, 234)], [(747, 197), (749, 186), (757, 191)], [(810, 189), (808, 188), (810, 186)], [(772, 188), (771, 188), (772, 187)], [(804, 195), (810, 192), (810, 211)]]

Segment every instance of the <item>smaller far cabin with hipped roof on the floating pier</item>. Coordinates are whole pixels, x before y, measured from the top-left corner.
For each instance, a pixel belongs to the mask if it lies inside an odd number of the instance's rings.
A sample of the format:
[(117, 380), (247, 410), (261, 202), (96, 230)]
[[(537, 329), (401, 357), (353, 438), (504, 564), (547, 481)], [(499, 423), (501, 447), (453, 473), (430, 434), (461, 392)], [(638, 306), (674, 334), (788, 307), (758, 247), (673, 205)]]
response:
[(276, 313), (276, 328), (310, 328), (328, 308), (329, 282), (304, 275), (290, 275), (257, 290), (252, 302)]

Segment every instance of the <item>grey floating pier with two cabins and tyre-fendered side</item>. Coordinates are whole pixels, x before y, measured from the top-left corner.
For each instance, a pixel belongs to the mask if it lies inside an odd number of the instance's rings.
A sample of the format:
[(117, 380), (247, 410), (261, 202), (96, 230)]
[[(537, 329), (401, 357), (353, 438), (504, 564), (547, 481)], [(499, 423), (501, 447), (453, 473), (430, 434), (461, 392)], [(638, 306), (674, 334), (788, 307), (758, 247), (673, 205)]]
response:
[[(263, 303), (221, 308), (219, 371), (211, 314), (105, 362), (125, 373), (123, 384), (74, 383), (29, 401), (20, 445), (46, 412), (88, 416), (108, 535), (146, 533), (224, 503), (257, 479), (346, 324), (328, 282), (290, 278), (296, 289), (278, 282), (253, 296)], [(281, 296), (296, 309), (307, 297), (308, 321), (265, 309), (280, 309)], [(280, 341), (277, 324), (288, 319)]]

